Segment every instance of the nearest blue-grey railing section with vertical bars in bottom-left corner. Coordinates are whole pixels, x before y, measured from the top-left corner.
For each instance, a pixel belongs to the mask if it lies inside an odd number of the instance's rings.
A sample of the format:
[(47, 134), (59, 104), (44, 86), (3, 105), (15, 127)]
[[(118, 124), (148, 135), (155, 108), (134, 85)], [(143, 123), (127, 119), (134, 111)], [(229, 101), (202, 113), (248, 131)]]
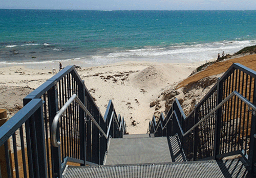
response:
[(33, 99), (1, 126), (0, 145), (5, 147), (6, 158), (5, 166), (1, 162), (1, 177), (47, 177), (47, 167), (41, 166), (47, 164), (41, 118), (42, 99)]

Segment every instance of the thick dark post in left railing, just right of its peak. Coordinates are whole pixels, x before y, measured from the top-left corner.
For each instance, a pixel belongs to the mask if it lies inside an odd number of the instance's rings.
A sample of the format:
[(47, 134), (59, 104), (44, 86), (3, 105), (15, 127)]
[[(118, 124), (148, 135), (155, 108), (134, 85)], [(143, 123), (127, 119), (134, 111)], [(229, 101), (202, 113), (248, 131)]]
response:
[[(85, 98), (84, 98), (84, 81), (82, 83), (79, 83), (78, 85), (78, 98), (82, 101), (83, 105), (86, 106), (85, 103)], [(84, 161), (84, 164), (82, 166), (85, 165), (86, 163), (86, 141), (85, 141), (85, 128), (84, 128), (84, 111), (81, 109), (81, 107), (79, 107), (79, 139), (80, 139), (80, 160)]]

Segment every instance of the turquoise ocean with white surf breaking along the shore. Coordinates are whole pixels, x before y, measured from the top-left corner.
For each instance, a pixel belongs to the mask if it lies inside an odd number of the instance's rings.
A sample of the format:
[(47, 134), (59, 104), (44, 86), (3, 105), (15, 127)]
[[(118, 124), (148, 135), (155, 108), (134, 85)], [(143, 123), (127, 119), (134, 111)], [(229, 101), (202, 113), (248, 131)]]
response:
[(256, 11), (0, 9), (0, 64), (197, 62), (256, 44)]

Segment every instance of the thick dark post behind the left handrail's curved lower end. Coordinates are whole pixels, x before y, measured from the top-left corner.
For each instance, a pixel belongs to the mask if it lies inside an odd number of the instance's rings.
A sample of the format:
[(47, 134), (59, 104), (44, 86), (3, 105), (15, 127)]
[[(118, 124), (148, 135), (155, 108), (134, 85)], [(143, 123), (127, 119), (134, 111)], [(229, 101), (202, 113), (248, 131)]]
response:
[[(49, 105), (49, 120), (50, 128), (52, 127), (52, 121), (58, 111), (58, 91), (57, 91), (57, 82), (55, 85), (48, 91), (48, 105)], [(57, 126), (57, 140), (59, 140), (59, 124)], [(60, 147), (54, 147), (51, 144), (52, 150), (52, 162), (53, 162), (53, 175), (54, 177), (61, 178), (61, 158), (60, 158)]]

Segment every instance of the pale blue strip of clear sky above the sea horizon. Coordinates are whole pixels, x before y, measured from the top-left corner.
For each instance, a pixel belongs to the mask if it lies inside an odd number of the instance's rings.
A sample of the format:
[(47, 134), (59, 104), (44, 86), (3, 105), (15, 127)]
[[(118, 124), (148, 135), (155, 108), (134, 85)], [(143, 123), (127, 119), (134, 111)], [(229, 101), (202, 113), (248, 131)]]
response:
[(0, 9), (256, 10), (255, 0), (1, 0)]

